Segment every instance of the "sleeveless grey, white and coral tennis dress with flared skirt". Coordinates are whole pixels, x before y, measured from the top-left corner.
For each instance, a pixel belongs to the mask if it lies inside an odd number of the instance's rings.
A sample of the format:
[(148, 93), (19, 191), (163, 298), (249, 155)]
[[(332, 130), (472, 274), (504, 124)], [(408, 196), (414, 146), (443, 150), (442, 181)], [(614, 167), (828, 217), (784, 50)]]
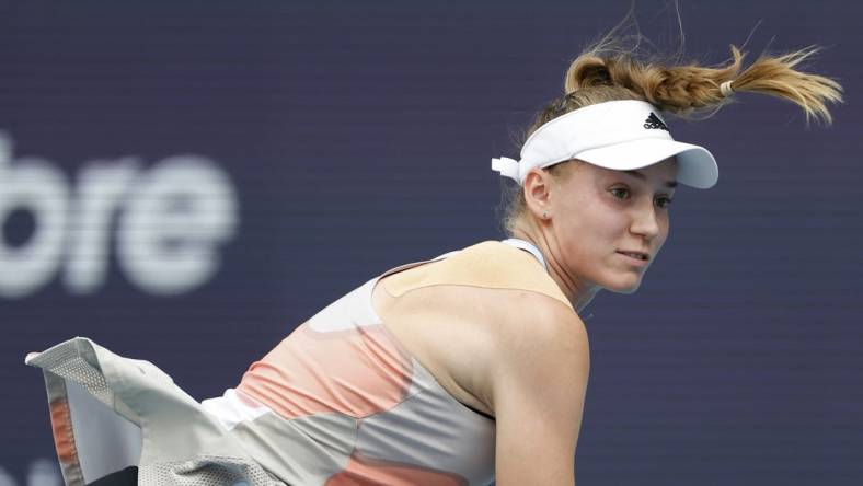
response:
[(539, 292), (572, 309), (530, 243), (506, 240), (393, 268), (302, 323), (235, 389), (200, 403), (149, 361), (82, 337), (26, 362), (43, 369), (69, 486), (131, 466), (147, 486), (488, 484), (494, 418), (453, 398), (407, 352), (382, 325), (372, 290), (392, 275), (382, 285), (396, 298), (472, 286)]

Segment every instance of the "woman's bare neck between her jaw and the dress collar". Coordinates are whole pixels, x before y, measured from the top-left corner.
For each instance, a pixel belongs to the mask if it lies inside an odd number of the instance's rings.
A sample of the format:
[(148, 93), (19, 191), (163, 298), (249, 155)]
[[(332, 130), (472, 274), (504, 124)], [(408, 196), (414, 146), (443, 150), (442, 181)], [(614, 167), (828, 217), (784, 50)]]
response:
[(519, 223), (513, 229), (513, 236), (529, 241), (539, 248), (549, 267), (549, 276), (557, 284), (557, 287), (566, 296), (576, 313), (580, 313), (599, 292), (600, 287), (590, 285), (577, 275), (566, 270), (566, 267), (557, 257), (560, 252), (557, 251), (556, 242), (550, 241), (540, 228), (531, 223)]

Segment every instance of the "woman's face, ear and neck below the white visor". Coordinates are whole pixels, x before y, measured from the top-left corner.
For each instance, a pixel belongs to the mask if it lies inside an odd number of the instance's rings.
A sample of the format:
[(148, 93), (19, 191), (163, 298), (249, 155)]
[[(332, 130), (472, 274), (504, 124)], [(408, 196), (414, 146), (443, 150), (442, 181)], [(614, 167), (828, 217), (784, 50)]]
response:
[[(540, 248), (551, 277), (582, 311), (601, 289), (632, 293), (641, 286), (668, 238), (675, 192), (668, 186), (676, 185), (677, 162), (666, 159), (635, 173), (577, 160), (565, 165), (559, 176), (528, 173), (527, 211), (514, 235)], [(634, 266), (618, 251), (643, 251), (648, 266)]]

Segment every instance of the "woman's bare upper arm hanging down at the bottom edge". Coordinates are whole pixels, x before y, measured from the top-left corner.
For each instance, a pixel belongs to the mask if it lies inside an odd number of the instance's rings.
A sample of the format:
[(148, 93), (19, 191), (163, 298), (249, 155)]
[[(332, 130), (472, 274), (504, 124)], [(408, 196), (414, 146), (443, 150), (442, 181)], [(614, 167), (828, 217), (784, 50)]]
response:
[(521, 294), (495, 339), (496, 483), (573, 485), (590, 368), (587, 332), (572, 310)]

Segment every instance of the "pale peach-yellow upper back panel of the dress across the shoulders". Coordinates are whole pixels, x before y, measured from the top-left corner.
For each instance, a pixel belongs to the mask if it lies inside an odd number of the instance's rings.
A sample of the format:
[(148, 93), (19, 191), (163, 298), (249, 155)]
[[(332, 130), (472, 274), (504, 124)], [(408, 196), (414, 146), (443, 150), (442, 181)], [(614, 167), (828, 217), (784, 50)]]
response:
[(485, 241), (433, 261), (403, 265), (381, 276), (389, 276), (383, 286), (394, 297), (435, 285), (527, 290), (551, 297), (572, 309), (545, 271), (542, 254), (530, 243), (517, 242), (521, 243)]

